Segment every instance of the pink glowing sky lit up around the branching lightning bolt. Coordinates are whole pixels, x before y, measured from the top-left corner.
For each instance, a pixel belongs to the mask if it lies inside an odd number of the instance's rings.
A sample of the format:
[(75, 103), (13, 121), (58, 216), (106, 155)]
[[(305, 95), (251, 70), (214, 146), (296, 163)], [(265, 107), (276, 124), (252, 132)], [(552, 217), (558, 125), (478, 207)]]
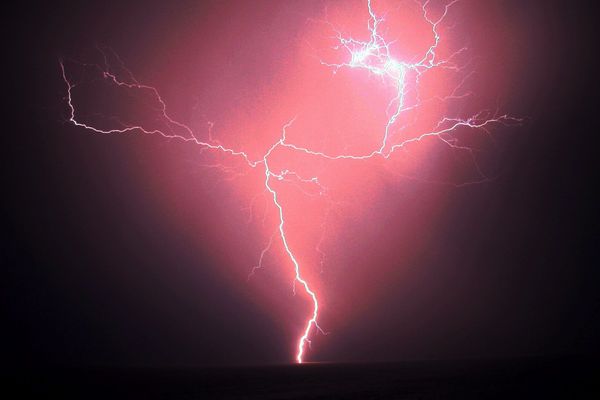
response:
[[(414, 107), (392, 126), (390, 144), (435, 132), (444, 117), (502, 115), (503, 100), (514, 95), (511, 77), (518, 65), (510, 44), (516, 29), (493, 4), (480, 3), (465, 0), (448, 9), (436, 56), (451, 59), (458, 70), (423, 74), (420, 99), (415, 78), (407, 78), (405, 101)], [(428, 2), (429, 18), (440, 18), (447, 4)], [(432, 46), (432, 26), (418, 2), (375, 0), (373, 10), (383, 18), (380, 34), (394, 59), (414, 63)], [(381, 146), (394, 84), (365, 69), (333, 66), (350, 62), (339, 36), (368, 42), (369, 20), (366, 1), (212, 4), (192, 11), (180, 26), (160, 30), (160, 40), (154, 33), (135, 57), (119, 53), (118, 59), (101, 47), (90, 52), (91, 61), (66, 60), (68, 80), (76, 84), (77, 120), (102, 130), (141, 125), (167, 136), (187, 134), (166, 123), (152, 93), (107, 83), (95, 67), (100, 65), (122, 82), (134, 83), (134, 75), (156, 88), (169, 115), (198, 140), (244, 152), (250, 160), (261, 160), (291, 121), (286, 142), (297, 147), (370, 154)], [(479, 114), (484, 110), (489, 113)], [(272, 179), (271, 187), (302, 277), (319, 299), (319, 325), (329, 333), (310, 332), (309, 360), (357, 316), (382, 307), (381, 286), (395, 285), (412, 258), (435, 247), (428, 237), (443, 218), (449, 190), (486, 180), (478, 168), (489, 177), (497, 173), (489, 154), (505, 140), (505, 125), (454, 130), (457, 144), (473, 151), (432, 137), (388, 158), (332, 160), (289, 147), (270, 153), (271, 170), (293, 171), (285, 180)], [(164, 210), (157, 218), (169, 221), (172, 235), (192, 238), (214, 256), (215, 273), (278, 321), (294, 357), (312, 303), (297, 281), (293, 294), (294, 266), (280, 238), (264, 166), (250, 168), (242, 157), (160, 135), (136, 140), (136, 157), (152, 165), (140, 168), (149, 195)], [(261, 253), (263, 262), (253, 270)]]

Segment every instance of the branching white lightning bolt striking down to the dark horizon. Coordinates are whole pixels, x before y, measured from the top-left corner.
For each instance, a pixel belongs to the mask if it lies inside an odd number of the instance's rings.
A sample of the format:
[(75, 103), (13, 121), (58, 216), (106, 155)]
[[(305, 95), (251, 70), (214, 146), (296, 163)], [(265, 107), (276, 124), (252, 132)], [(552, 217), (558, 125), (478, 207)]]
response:
[[(288, 122), (285, 123), (285, 125), (283, 125), (281, 129), (281, 135), (279, 137), (279, 140), (274, 142), (264, 153), (264, 155), (259, 158), (253, 159), (247, 152), (227, 147), (217, 141), (212, 140), (212, 138), (210, 138), (209, 141), (202, 141), (198, 139), (197, 135), (194, 134), (194, 131), (188, 125), (174, 120), (169, 115), (169, 113), (167, 112), (167, 104), (165, 103), (165, 101), (163, 100), (160, 93), (155, 87), (138, 82), (129, 72), (129, 70), (126, 70), (129, 75), (128, 79), (121, 79), (119, 76), (117, 76), (117, 74), (111, 72), (106, 57), (106, 62), (104, 65), (92, 66), (94, 68), (97, 68), (101, 76), (106, 81), (108, 81), (109, 84), (115, 85), (125, 90), (138, 90), (149, 93), (159, 105), (159, 111), (164, 121), (170, 127), (177, 127), (178, 129), (181, 129), (183, 132), (185, 132), (185, 134), (178, 134), (174, 132), (173, 129), (147, 129), (142, 125), (122, 125), (119, 128), (103, 129), (91, 125), (89, 123), (82, 122), (77, 118), (77, 108), (74, 104), (72, 96), (73, 91), (77, 88), (77, 84), (69, 78), (67, 69), (65, 67), (65, 63), (61, 60), (60, 68), (62, 78), (66, 84), (67, 92), (66, 103), (69, 110), (68, 120), (70, 123), (77, 127), (96, 133), (119, 134), (129, 132), (141, 132), (146, 134), (160, 135), (168, 139), (176, 139), (183, 142), (189, 142), (198, 145), (203, 149), (224, 153), (231, 157), (241, 158), (245, 161), (249, 168), (264, 168), (264, 188), (270, 194), (270, 197), (272, 199), (272, 205), (275, 207), (278, 213), (279, 223), (277, 226), (276, 233), (273, 236), (271, 236), (267, 247), (265, 247), (262, 253), (260, 254), (260, 260), (258, 265), (252, 269), (250, 275), (254, 274), (256, 269), (262, 267), (263, 258), (265, 254), (271, 250), (273, 241), (275, 240), (275, 237), (278, 236), (285, 250), (286, 257), (289, 259), (289, 261), (291, 261), (293, 265), (295, 283), (294, 292), (296, 290), (297, 284), (299, 284), (302, 290), (308, 295), (310, 301), (312, 302), (312, 312), (310, 313), (310, 315), (307, 316), (304, 329), (299, 334), (296, 344), (297, 350), (295, 359), (298, 363), (303, 363), (306, 360), (307, 345), (310, 346), (311, 337), (314, 334), (315, 330), (321, 333), (325, 333), (318, 324), (319, 297), (318, 294), (313, 290), (313, 288), (311, 288), (311, 285), (306, 280), (306, 277), (303, 275), (303, 268), (295, 255), (293, 245), (290, 244), (286, 226), (285, 206), (280, 201), (279, 193), (273, 187), (272, 183), (274, 181), (290, 181), (293, 179), (295, 182), (299, 182), (302, 184), (316, 185), (319, 188), (321, 194), (324, 194), (326, 188), (324, 188), (321, 185), (317, 176), (303, 177), (300, 176), (298, 173), (290, 170), (273, 170), (270, 165), (270, 156), (276, 149), (286, 148), (295, 153), (304, 153), (313, 157), (319, 157), (328, 160), (367, 160), (377, 157), (388, 159), (390, 155), (396, 152), (397, 150), (401, 150), (409, 145), (418, 144), (419, 142), (430, 138), (441, 141), (441, 143), (450, 147), (453, 150), (466, 152), (467, 154), (473, 156), (471, 148), (459, 145), (458, 142), (452, 138), (451, 134), (453, 131), (457, 130), (458, 128), (469, 128), (473, 130), (481, 130), (485, 133), (488, 133), (488, 130), (494, 125), (518, 125), (521, 122), (521, 119), (519, 118), (514, 118), (506, 114), (499, 114), (497, 112), (493, 113), (489, 111), (481, 111), (472, 115), (469, 118), (443, 117), (439, 120), (435, 129), (429, 132), (425, 132), (419, 136), (406, 139), (398, 143), (390, 142), (390, 130), (401, 118), (402, 114), (417, 108), (421, 104), (421, 99), (419, 95), (417, 95), (417, 99), (414, 102), (406, 101), (405, 97), (407, 92), (409, 91), (409, 87), (413, 88), (413, 90), (416, 90), (416, 92), (418, 93), (418, 87), (421, 76), (432, 69), (449, 69), (457, 72), (463, 71), (463, 67), (457, 65), (453, 61), (453, 59), (455, 58), (455, 56), (464, 52), (466, 50), (465, 48), (459, 49), (457, 52), (445, 59), (439, 59), (438, 55), (436, 54), (436, 50), (438, 49), (438, 44), (440, 43), (441, 39), (438, 28), (446, 18), (448, 10), (455, 3), (457, 3), (457, 1), (458, 0), (453, 0), (446, 4), (441, 16), (439, 16), (436, 19), (433, 19), (429, 15), (429, 0), (425, 1), (424, 3), (418, 3), (422, 10), (423, 19), (431, 27), (431, 46), (425, 51), (424, 54), (422, 54), (422, 57), (420, 57), (417, 61), (414, 62), (407, 62), (394, 58), (390, 49), (390, 45), (393, 42), (401, 41), (402, 38), (394, 38), (394, 40), (384, 38), (384, 35), (381, 32), (380, 28), (385, 21), (385, 17), (377, 15), (375, 13), (372, 5), (372, 0), (367, 0), (365, 5), (368, 8), (369, 12), (369, 19), (365, 21), (370, 32), (370, 37), (367, 41), (360, 41), (353, 39), (352, 37), (345, 37), (344, 35), (339, 33), (339, 31), (337, 31), (335, 27), (333, 27), (334, 31), (336, 32), (337, 43), (335, 50), (345, 52), (346, 60), (342, 63), (331, 63), (327, 60), (319, 60), (317, 62), (320, 62), (324, 68), (331, 69), (333, 73), (336, 73), (341, 69), (362, 70), (365, 74), (380, 77), (381, 80), (385, 82), (386, 85), (390, 85), (390, 87), (393, 88), (395, 92), (395, 96), (390, 100), (386, 110), (387, 115), (390, 116), (381, 134), (381, 141), (379, 146), (364, 153), (330, 154), (327, 152), (296, 145), (290, 142), (286, 137), (286, 130), (294, 124), (295, 120), (297, 119), (296, 116), (290, 116)], [(468, 77), (469, 74), (465, 74), (465, 78), (457, 85), (454, 92), (450, 96), (445, 96), (440, 100), (460, 100), (466, 96), (469, 96), (469, 93), (457, 94), (460, 92), (459, 89), (462, 88)], [(473, 163), (475, 165), (475, 168), (477, 169), (477, 173), (480, 179), (468, 182), (453, 183), (455, 186), (463, 186), (488, 180), (486, 175), (477, 166), (477, 163), (474, 158)], [(320, 251), (320, 249), (318, 250)]]

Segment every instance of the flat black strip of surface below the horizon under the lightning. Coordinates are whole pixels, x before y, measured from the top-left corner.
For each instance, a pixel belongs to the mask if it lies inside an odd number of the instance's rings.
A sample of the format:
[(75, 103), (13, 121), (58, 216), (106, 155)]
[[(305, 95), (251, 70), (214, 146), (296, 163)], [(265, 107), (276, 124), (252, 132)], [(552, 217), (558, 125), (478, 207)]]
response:
[[(6, 368), (6, 366), (5, 366)], [(3, 398), (600, 399), (591, 359), (3, 372)], [(16, 389), (16, 390), (15, 390)]]

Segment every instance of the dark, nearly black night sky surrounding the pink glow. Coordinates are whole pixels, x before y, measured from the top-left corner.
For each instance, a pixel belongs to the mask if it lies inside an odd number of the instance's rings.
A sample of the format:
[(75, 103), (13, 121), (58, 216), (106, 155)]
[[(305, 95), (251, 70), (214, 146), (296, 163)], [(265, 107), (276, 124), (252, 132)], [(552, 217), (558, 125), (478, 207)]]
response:
[[(191, 7), (140, 3), (55, 2), (17, 10), (11, 23), (3, 364), (287, 362), (289, 338), (247, 301), (250, 290), (203, 268), (218, 262), (211, 252), (155, 218), (152, 187), (135, 172), (143, 154), (132, 157), (140, 139), (90, 137), (63, 122), (58, 57), (119, 46), (136, 29), (122, 21), (164, 28)], [(322, 359), (598, 354), (595, 21), (584, 2), (502, 3), (534, 21), (527, 90), (507, 105), (530, 121), (500, 178), (450, 192), (436, 249), (402, 287), (382, 288)]]

